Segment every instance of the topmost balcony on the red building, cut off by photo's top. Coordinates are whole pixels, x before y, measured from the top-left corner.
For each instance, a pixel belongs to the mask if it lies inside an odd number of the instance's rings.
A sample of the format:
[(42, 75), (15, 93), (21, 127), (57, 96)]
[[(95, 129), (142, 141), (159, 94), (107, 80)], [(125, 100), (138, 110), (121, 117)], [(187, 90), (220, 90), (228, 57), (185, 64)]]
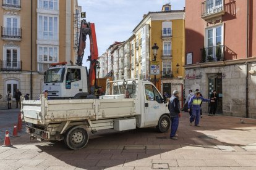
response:
[(202, 2), (201, 17), (203, 20), (219, 18), (225, 14), (224, 0), (207, 0)]

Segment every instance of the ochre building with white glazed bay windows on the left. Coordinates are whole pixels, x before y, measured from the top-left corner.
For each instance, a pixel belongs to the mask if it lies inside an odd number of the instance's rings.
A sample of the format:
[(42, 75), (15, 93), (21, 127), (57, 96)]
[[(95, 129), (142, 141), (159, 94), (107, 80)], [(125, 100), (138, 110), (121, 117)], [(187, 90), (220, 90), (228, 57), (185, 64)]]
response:
[[(7, 91), (36, 99), (51, 63), (75, 61), (77, 1), (0, 1), (0, 105)], [(78, 23), (78, 22), (77, 22)], [(15, 99), (14, 99), (15, 100)]]

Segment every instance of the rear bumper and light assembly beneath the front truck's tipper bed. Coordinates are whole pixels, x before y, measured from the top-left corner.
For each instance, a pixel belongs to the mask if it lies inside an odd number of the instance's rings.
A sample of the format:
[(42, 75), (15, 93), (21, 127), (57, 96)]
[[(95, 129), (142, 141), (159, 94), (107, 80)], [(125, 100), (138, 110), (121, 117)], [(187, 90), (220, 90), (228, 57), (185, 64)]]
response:
[(41, 129), (36, 129), (35, 127), (26, 127), (26, 132), (30, 134), (30, 139), (41, 140), (50, 140), (49, 132), (43, 131)]

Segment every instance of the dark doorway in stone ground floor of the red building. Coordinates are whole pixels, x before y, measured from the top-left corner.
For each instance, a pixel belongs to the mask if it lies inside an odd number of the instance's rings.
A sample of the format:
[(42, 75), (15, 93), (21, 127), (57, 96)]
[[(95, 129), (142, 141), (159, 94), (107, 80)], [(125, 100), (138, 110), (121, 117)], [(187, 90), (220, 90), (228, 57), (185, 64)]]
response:
[[(216, 90), (219, 96), (217, 114), (223, 114), (222, 110), (222, 73), (208, 75), (208, 99), (210, 99), (211, 93)], [(206, 97), (206, 96), (205, 96)], [(210, 107), (208, 107), (208, 111)]]

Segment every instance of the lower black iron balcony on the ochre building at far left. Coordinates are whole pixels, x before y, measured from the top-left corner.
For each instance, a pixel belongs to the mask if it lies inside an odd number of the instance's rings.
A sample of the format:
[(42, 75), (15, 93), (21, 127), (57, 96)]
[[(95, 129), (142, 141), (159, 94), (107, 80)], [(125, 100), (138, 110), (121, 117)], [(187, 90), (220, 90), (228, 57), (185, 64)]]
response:
[(1, 71), (22, 71), (22, 61), (1, 60), (0, 64)]

